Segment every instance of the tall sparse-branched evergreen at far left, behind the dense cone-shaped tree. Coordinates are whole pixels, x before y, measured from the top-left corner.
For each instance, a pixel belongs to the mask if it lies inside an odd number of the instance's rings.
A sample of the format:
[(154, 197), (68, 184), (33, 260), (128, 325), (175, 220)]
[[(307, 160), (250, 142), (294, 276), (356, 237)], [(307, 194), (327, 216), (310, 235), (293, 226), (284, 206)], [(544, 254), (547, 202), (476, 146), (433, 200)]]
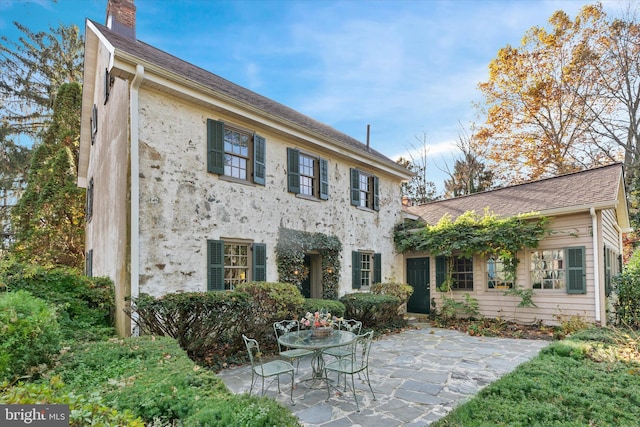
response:
[(83, 69), (75, 25), (48, 33), (14, 25), (23, 33), (17, 41), (0, 37), (0, 254), (13, 240), (11, 209), (25, 188), (32, 146), (51, 121), (58, 89), (80, 82)]

